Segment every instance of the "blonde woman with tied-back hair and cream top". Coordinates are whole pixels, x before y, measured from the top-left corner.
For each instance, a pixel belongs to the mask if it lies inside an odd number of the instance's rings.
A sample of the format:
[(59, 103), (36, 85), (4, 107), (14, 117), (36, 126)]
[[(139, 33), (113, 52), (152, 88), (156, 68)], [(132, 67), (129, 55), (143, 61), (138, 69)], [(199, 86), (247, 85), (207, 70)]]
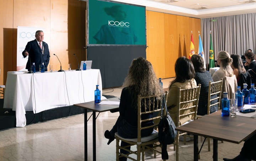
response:
[(217, 56), (217, 63), (220, 65), (220, 69), (215, 71), (212, 76), (214, 82), (220, 81), (226, 76), (232, 77), (234, 75), (230, 66), (232, 64), (232, 58), (230, 58), (228, 52), (220, 51)]

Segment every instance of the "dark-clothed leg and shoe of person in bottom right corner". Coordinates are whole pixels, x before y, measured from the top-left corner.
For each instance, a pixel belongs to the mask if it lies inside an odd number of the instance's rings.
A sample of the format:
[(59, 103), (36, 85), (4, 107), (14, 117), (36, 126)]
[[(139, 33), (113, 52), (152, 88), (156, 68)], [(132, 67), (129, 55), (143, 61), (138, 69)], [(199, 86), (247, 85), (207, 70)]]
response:
[(240, 154), (233, 159), (223, 158), (224, 161), (251, 161), (256, 160), (256, 134), (245, 141)]

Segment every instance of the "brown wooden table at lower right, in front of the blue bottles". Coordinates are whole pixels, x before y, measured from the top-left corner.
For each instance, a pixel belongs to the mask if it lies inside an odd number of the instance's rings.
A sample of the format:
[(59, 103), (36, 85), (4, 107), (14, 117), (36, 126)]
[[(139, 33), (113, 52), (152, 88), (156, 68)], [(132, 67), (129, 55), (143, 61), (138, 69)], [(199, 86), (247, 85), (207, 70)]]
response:
[(176, 130), (194, 135), (194, 161), (198, 161), (198, 136), (213, 139), (213, 160), (218, 160), (218, 140), (239, 144), (256, 132), (256, 119), (221, 116), (221, 110), (179, 126)]

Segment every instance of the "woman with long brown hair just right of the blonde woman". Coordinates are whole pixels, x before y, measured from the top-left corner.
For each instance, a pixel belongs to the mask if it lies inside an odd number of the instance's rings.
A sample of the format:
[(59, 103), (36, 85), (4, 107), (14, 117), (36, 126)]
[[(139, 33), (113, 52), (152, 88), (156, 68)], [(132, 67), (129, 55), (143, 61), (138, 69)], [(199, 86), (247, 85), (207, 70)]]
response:
[(236, 80), (238, 81), (240, 74), (246, 73), (246, 70), (245, 70), (244, 65), (242, 63), (242, 59), (239, 55), (231, 54), (230, 57), (233, 59), (232, 64), (231, 64), (231, 68), (233, 69), (233, 73), (235, 74)]

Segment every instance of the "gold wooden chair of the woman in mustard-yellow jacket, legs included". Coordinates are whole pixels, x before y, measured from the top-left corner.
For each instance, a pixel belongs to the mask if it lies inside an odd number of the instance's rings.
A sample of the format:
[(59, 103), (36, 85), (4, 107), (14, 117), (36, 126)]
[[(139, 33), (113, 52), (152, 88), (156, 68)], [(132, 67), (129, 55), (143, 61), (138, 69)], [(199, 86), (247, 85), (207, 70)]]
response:
[[(201, 84), (193, 88), (186, 88), (186, 89), (181, 89), (180, 87), (178, 88), (176, 127), (180, 126), (180, 117), (185, 117), (185, 116), (192, 117), (191, 120), (187, 120), (187, 122), (183, 123), (182, 125), (185, 125), (186, 123), (196, 120), (200, 88), (201, 88)], [(181, 111), (185, 111), (185, 112), (182, 112), (181, 114)], [(179, 137), (181, 135), (184, 135), (185, 144), (186, 144), (186, 136), (191, 137), (186, 134), (187, 133), (180, 133), (179, 131), (177, 131), (177, 136), (175, 138), (175, 143), (174, 143), (175, 144), (174, 150), (176, 150), (176, 161), (178, 161)]]

